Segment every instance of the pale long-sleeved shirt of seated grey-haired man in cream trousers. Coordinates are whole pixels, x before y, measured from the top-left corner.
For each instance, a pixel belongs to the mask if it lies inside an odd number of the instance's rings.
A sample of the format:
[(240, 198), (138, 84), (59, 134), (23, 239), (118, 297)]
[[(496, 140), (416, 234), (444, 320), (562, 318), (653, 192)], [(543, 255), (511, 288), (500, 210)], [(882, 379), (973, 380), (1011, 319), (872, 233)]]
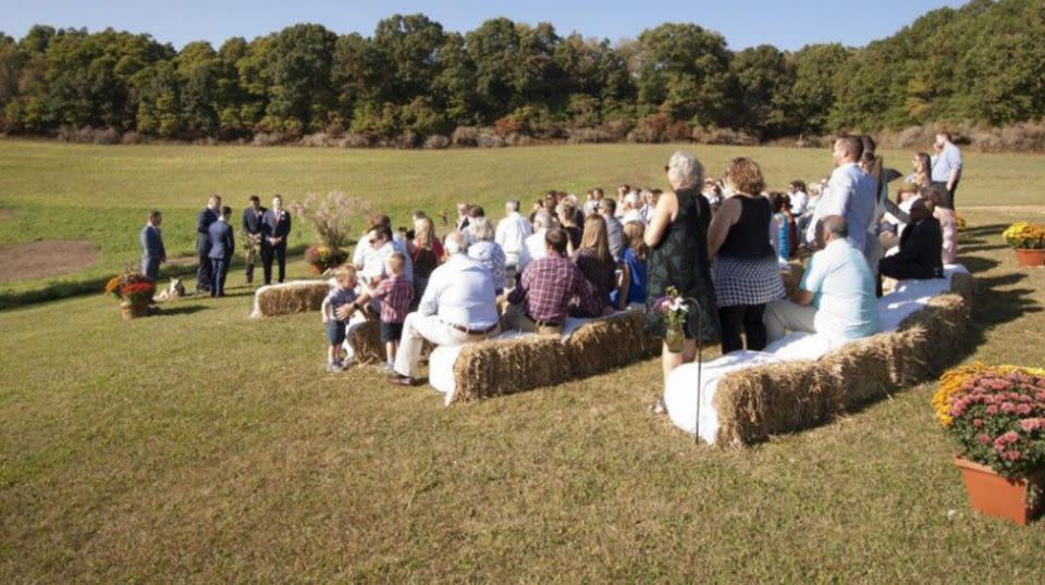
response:
[(482, 331), (499, 321), (493, 275), (463, 253), (450, 257), (432, 271), (417, 312), (438, 315), (448, 325)]

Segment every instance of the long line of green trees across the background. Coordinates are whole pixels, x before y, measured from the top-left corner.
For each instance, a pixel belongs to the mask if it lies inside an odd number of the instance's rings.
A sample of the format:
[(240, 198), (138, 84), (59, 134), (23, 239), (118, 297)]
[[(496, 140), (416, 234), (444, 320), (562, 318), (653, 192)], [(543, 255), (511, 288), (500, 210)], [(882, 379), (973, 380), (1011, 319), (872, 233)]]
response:
[(181, 51), (113, 29), (37, 25), (19, 40), (0, 33), (0, 130), (10, 134), (325, 133), (419, 146), (484, 127), (502, 138), (660, 141), (736, 132), (766, 140), (1001, 126), (1043, 113), (1043, 0), (973, 0), (863, 48), (798, 51), (732, 51), (722, 35), (690, 23), (611, 43), (503, 17), (460, 34), (423, 14), (382, 20), (370, 37), (297, 24)]

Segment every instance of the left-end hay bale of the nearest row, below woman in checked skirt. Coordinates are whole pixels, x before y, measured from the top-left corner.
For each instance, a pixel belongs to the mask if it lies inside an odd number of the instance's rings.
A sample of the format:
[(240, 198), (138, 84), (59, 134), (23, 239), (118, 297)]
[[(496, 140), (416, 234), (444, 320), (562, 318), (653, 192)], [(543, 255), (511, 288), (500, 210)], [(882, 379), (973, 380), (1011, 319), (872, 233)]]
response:
[(814, 361), (733, 372), (723, 376), (715, 390), (715, 444), (751, 445), (770, 435), (815, 426), (840, 412), (841, 400), (838, 379)]

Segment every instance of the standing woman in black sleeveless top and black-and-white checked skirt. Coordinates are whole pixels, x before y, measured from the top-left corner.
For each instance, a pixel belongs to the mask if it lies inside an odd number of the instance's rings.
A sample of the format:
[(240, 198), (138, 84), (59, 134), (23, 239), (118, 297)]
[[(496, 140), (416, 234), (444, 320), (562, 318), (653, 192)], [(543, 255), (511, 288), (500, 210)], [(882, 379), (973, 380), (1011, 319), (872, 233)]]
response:
[[(726, 172), (726, 189), (735, 195), (711, 221), (708, 251), (715, 261), (715, 297), (722, 324), (722, 352), (765, 348), (765, 303), (784, 298), (784, 283), (770, 244), (770, 200), (762, 170), (751, 159), (737, 158)], [(873, 201), (872, 201), (873, 203)]]

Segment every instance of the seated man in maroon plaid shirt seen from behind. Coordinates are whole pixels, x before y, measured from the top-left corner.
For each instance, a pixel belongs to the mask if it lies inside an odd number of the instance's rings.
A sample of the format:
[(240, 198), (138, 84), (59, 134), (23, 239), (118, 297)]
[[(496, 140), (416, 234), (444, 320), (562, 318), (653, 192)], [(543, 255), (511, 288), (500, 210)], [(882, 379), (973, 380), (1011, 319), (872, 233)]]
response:
[(566, 258), (568, 239), (562, 229), (549, 229), (544, 235), (548, 254), (527, 264), (519, 286), (508, 294), (505, 329), (562, 335), (571, 308), (602, 313), (585, 276)]

